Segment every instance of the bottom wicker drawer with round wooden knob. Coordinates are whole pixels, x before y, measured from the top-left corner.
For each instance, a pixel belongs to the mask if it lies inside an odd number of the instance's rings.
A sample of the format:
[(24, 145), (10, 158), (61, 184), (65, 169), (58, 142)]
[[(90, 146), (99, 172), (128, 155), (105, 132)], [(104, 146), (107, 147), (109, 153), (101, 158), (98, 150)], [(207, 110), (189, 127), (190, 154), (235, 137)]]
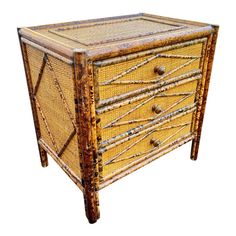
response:
[(157, 155), (181, 139), (191, 136), (192, 115), (191, 112), (178, 117), (104, 152), (103, 177), (115, 175), (117, 170), (128, 168), (141, 159)]

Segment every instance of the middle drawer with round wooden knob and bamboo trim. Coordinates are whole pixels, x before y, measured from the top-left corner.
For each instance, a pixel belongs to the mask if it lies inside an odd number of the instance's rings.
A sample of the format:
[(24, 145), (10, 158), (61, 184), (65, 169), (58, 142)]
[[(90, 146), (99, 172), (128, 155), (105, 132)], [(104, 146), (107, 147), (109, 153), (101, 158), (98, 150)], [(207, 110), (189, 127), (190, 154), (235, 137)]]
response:
[(101, 147), (127, 136), (129, 130), (137, 126), (145, 128), (165, 114), (193, 104), (200, 78), (201, 74), (140, 94), (131, 100), (97, 109)]

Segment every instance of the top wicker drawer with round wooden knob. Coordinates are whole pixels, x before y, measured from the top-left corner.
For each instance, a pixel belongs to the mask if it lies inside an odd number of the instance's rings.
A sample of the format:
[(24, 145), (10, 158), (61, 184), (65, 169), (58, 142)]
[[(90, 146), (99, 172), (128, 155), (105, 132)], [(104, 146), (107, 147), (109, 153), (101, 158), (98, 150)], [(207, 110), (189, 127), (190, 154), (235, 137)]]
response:
[[(200, 70), (200, 58), (204, 40), (195, 40), (192, 45), (158, 52), (148, 51), (149, 54), (119, 63), (97, 66), (96, 80), (99, 84), (100, 104), (115, 101), (120, 94), (132, 93), (142, 88), (152, 87), (173, 77)], [(191, 43), (189, 43), (191, 44)], [(176, 48), (177, 47), (177, 48)], [(147, 53), (148, 53), (147, 52)], [(141, 54), (141, 55), (142, 55)], [(127, 56), (127, 58), (129, 58)], [(133, 56), (134, 57), (134, 56)], [(132, 58), (132, 57), (131, 57)], [(124, 60), (124, 59), (123, 59)], [(119, 97), (118, 97), (119, 98)]]

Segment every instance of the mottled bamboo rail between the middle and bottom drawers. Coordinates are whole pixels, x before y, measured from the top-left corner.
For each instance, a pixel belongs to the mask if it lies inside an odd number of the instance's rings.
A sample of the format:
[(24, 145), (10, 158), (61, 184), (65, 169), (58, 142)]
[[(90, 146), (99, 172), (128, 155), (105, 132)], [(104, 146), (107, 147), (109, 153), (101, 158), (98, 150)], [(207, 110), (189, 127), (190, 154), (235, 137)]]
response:
[(177, 119), (181, 116), (187, 115), (195, 110), (196, 110), (196, 104), (192, 104), (190, 106), (186, 106), (184, 108), (176, 110), (170, 114), (167, 114), (163, 117), (160, 117), (157, 120), (151, 121), (145, 125), (137, 126), (137, 127), (133, 128), (132, 130), (129, 130), (125, 133), (119, 134), (117, 136), (114, 136), (114, 137), (102, 142), (101, 147), (99, 148), (98, 152), (100, 154), (102, 154), (111, 148), (114, 148), (126, 141), (131, 140), (132, 138), (135, 138), (145, 132), (148, 132), (149, 130), (157, 128), (157, 127), (159, 127), (163, 124), (166, 124), (174, 119)]

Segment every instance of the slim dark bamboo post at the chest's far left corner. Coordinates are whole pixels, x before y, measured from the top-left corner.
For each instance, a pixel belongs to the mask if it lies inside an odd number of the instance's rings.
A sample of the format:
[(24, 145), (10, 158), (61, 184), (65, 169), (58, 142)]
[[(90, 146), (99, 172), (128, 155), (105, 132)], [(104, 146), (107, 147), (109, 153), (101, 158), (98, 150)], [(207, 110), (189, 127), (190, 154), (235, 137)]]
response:
[(34, 127), (35, 127), (35, 133), (36, 133), (36, 138), (37, 138), (37, 145), (39, 149), (40, 161), (41, 161), (42, 167), (47, 167), (48, 166), (47, 152), (38, 143), (41, 137), (41, 134), (40, 134), (39, 121), (38, 121), (38, 116), (37, 116), (36, 102), (33, 95), (34, 89), (33, 89), (32, 79), (30, 75), (26, 45), (21, 40), (19, 29), (18, 29), (18, 36), (19, 36), (19, 41), (20, 41), (20, 46), (21, 46), (24, 68), (25, 68), (25, 75), (26, 75), (26, 82), (27, 82), (28, 93), (29, 93), (29, 98), (30, 98), (31, 110), (32, 110), (33, 119), (34, 119)]

